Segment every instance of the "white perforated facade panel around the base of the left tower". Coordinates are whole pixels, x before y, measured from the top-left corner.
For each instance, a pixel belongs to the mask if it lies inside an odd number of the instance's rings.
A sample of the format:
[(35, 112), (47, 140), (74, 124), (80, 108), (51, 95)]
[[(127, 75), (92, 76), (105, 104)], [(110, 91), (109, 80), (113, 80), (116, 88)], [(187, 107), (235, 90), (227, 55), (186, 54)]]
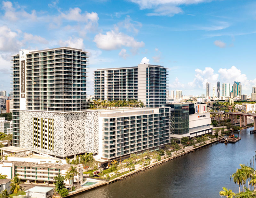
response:
[[(53, 119), (53, 149), (34, 144), (34, 118)], [(20, 147), (54, 156), (98, 153), (99, 112), (40, 112), (20, 110)]]

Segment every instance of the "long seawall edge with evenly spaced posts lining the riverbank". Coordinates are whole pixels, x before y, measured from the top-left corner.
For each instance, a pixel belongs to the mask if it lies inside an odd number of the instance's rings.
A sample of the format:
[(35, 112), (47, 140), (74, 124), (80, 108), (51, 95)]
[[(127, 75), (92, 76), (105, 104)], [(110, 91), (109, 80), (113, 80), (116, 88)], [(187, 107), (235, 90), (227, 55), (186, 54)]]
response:
[[(209, 141), (209, 142), (207, 142), (207, 143), (205, 143), (205, 144), (202, 144), (202, 145), (197, 146), (197, 147), (195, 147), (195, 148), (189, 149), (189, 150), (187, 150), (187, 151), (183, 151), (183, 152), (181, 152), (181, 153), (179, 153), (179, 154), (176, 154), (176, 155), (173, 155), (173, 156), (171, 156), (171, 157), (167, 157), (167, 158), (165, 158), (165, 159), (162, 159), (162, 160), (160, 160), (160, 161), (154, 162), (154, 163), (152, 163), (152, 164), (143, 166), (143, 167), (138, 168), (138, 169), (136, 169), (136, 170), (134, 170), (134, 171), (130, 171), (130, 172), (124, 174), (124, 175), (121, 175), (121, 176), (119, 176), (119, 177), (117, 177), (117, 178), (114, 178), (114, 179), (111, 179), (111, 180), (109, 180), (109, 181), (105, 181), (105, 182), (102, 182), (102, 183), (99, 183), (99, 184), (94, 184), (94, 185), (92, 185), (92, 187), (86, 187), (86, 188), (84, 188), (84, 189), (79, 189), (79, 190), (77, 190), (77, 191), (75, 191), (75, 192), (72, 192), (72, 193), (68, 194), (67, 197), (72, 197), (73, 195), (77, 195), (77, 194), (86, 192), (86, 191), (88, 191), (88, 190), (94, 189), (94, 188), (98, 188), (98, 187), (101, 187), (101, 186), (104, 186), (104, 185), (107, 185), (107, 184), (112, 184), (112, 183), (114, 183), (114, 182), (116, 182), (116, 181), (119, 181), (119, 180), (122, 180), (122, 179), (129, 178), (129, 177), (131, 177), (132, 175), (135, 175), (135, 174), (137, 174), (137, 173), (139, 173), (139, 172), (148, 170), (148, 169), (150, 169), (150, 168), (152, 168), (152, 167), (155, 167), (155, 166), (161, 165), (161, 164), (163, 164), (163, 163), (165, 163), (165, 162), (171, 161), (172, 159), (175, 159), (175, 158), (178, 158), (178, 157), (180, 157), (180, 156), (186, 155), (186, 154), (188, 154), (188, 153), (194, 152), (194, 151), (196, 151), (196, 150), (198, 150), (198, 149), (201, 149), (201, 148), (203, 148), (203, 147), (205, 147), (205, 146), (208, 146), (208, 145), (210, 145), (210, 144), (213, 144), (213, 143), (216, 143), (216, 142), (220, 142), (220, 140), (221, 140), (221, 138), (218, 138), (218, 139), (215, 139), (215, 140), (211, 140), (211, 141)], [(85, 181), (85, 182), (86, 182), (86, 181)]]

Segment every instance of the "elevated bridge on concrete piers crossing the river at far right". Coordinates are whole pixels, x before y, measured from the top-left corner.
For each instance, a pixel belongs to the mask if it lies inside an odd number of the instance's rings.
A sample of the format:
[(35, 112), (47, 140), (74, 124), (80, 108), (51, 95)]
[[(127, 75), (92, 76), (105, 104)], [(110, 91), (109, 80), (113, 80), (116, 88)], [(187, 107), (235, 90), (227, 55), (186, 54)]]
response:
[(240, 127), (247, 126), (247, 117), (254, 118), (254, 131), (256, 130), (256, 113), (242, 113), (242, 112), (211, 112), (211, 118), (215, 120), (230, 119), (232, 124), (237, 123), (237, 116), (240, 116)]

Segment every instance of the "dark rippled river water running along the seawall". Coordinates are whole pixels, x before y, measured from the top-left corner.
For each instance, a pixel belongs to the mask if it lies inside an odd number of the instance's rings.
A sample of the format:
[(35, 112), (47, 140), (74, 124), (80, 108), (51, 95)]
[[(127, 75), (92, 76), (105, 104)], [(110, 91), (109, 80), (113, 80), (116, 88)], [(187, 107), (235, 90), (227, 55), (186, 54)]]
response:
[(233, 178), (230, 181), (230, 175), (240, 168), (239, 164), (249, 165), (255, 156), (256, 134), (250, 134), (250, 130), (253, 128), (241, 130), (242, 140), (235, 144), (214, 143), (129, 179), (72, 198), (220, 198), (222, 187), (237, 193), (238, 185)]

